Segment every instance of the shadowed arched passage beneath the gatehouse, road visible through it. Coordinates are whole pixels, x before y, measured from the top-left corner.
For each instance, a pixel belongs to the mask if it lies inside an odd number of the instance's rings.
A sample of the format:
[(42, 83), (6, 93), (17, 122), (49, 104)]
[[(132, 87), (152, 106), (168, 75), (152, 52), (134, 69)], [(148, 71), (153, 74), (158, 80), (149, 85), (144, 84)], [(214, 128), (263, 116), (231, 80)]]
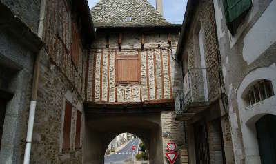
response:
[(163, 163), (160, 113), (86, 114), (83, 163), (104, 163), (104, 154), (115, 136), (129, 132), (148, 148), (150, 164)]

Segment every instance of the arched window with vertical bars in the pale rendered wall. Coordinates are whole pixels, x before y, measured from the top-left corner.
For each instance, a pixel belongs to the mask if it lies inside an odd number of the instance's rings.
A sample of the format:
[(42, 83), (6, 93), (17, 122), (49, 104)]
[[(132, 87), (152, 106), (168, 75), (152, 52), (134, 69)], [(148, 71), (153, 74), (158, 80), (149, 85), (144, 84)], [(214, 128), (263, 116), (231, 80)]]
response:
[(264, 99), (268, 99), (273, 96), (273, 87), (271, 81), (262, 80), (253, 85), (247, 94), (248, 105), (253, 105)]

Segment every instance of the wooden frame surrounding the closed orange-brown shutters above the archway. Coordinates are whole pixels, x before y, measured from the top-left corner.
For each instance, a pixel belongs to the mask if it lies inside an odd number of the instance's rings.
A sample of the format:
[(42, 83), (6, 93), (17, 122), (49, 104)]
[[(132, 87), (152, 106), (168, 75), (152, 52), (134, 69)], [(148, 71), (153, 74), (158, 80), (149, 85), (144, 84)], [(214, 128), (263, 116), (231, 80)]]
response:
[[(138, 81), (118, 81), (119, 72), (118, 72), (118, 61), (119, 60), (137, 60), (137, 79)], [(141, 85), (141, 58), (140, 55), (117, 55), (115, 61), (115, 83), (116, 85)]]

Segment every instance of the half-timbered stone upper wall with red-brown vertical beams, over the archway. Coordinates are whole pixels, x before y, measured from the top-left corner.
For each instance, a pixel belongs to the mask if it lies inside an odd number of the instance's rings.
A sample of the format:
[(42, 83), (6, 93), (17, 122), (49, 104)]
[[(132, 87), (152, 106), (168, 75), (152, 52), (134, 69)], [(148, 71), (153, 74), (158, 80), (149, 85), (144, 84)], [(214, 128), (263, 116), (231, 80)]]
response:
[[(181, 72), (176, 71), (179, 65), (172, 59), (178, 37), (177, 34), (171, 35), (172, 47), (165, 32), (145, 34), (144, 50), (141, 50), (141, 34), (126, 32), (122, 37), (122, 50), (119, 50), (119, 33), (109, 34), (109, 48), (106, 48), (106, 34), (99, 33), (90, 50), (87, 101), (113, 103), (172, 99), (175, 94), (172, 88), (175, 91), (181, 86)], [(118, 55), (138, 55), (141, 61), (140, 85), (116, 85), (115, 61)]]

